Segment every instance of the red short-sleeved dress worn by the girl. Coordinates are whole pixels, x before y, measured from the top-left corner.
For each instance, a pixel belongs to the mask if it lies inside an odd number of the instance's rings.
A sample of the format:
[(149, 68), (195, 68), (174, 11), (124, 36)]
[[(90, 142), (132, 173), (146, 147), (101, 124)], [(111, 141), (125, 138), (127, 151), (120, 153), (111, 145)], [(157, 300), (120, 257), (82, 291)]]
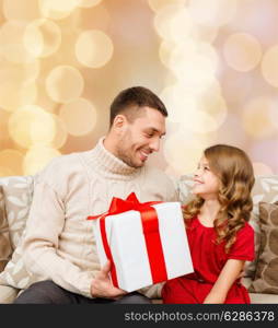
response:
[[(195, 272), (169, 280), (162, 289), (163, 303), (201, 304), (217, 281), (228, 259), (253, 260), (254, 230), (248, 224), (238, 232), (230, 253), (224, 243), (217, 245), (216, 231), (194, 218), (186, 229)], [(236, 280), (228, 292), (225, 304), (250, 304), (247, 290)]]

